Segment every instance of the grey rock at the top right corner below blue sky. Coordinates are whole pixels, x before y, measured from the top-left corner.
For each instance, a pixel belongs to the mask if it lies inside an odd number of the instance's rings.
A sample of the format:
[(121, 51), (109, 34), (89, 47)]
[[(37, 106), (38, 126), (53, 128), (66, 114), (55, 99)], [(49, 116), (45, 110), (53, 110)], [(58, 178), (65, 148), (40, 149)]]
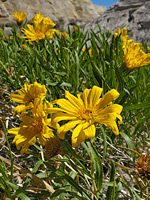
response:
[(150, 0), (120, 0), (87, 24), (85, 30), (92, 28), (97, 33), (97, 24), (104, 32), (126, 27), (135, 42), (150, 43)]

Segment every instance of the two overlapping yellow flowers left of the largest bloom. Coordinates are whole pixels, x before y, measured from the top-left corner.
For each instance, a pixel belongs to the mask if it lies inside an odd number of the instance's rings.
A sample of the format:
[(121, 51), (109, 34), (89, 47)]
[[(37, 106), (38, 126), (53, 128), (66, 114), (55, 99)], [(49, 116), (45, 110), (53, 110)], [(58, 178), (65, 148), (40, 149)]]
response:
[[(21, 118), (20, 126), (8, 130), (8, 133), (14, 134), (13, 143), (17, 149), (21, 149), (21, 155), (28, 153), (27, 149), (30, 145), (36, 143), (38, 138), (39, 143), (45, 145), (47, 139), (54, 137), (50, 127), (51, 119), (47, 118), (47, 109), (51, 104), (47, 101), (43, 102), (46, 96), (46, 88), (37, 82), (28, 85), (24, 84), (24, 88), (20, 89), (19, 95), (11, 94), (10, 99), (22, 105), (15, 108)], [(27, 115), (27, 111), (31, 112), (31, 116)]]

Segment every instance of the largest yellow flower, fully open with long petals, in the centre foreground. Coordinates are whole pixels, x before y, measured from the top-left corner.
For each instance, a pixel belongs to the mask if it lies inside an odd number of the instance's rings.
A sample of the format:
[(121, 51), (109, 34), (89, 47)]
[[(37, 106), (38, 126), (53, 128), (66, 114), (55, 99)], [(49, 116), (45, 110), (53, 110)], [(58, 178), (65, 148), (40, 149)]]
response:
[[(54, 101), (60, 108), (49, 108), (47, 112), (53, 113), (52, 124), (57, 128), (59, 138), (64, 139), (65, 133), (73, 129), (72, 146), (76, 147), (86, 138), (95, 136), (96, 122), (107, 126), (114, 134), (119, 134), (116, 118), (122, 122), (120, 113), (123, 107), (112, 104), (112, 101), (119, 97), (119, 93), (112, 89), (100, 98), (102, 90), (93, 86), (92, 89), (85, 89), (83, 94), (78, 94), (77, 97), (65, 91), (66, 99)], [(59, 127), (57, 123), (64, 120), (68, 122)]]

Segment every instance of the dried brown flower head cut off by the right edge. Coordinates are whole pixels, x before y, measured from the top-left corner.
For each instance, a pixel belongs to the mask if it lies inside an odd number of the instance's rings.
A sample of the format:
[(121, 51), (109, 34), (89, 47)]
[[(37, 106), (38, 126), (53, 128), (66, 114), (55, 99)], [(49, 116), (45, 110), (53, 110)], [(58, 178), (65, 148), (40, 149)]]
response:
[(141, 155), (136, 162), (136, 169), (139, 174), (150, 180), (150, 155)]

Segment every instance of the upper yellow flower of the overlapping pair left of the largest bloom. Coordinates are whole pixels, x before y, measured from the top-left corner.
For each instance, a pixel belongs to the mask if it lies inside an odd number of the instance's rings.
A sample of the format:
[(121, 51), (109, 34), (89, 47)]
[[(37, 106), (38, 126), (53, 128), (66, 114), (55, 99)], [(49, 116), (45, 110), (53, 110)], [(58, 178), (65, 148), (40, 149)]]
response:
[(31, 85), (27, 83), (24, 84), (24, 87), (18, 91), (18, 94), (11, 94), (9, 98), (13, 101), (21, 103), (15, 108), (15, 113), (24, 113), (26, 110), (33, 108), (33, 103), (36, 98), (43, 100), (46, 96), (47, 90), (45, 85), (41, 85), (37, 82), (34, 82)]

